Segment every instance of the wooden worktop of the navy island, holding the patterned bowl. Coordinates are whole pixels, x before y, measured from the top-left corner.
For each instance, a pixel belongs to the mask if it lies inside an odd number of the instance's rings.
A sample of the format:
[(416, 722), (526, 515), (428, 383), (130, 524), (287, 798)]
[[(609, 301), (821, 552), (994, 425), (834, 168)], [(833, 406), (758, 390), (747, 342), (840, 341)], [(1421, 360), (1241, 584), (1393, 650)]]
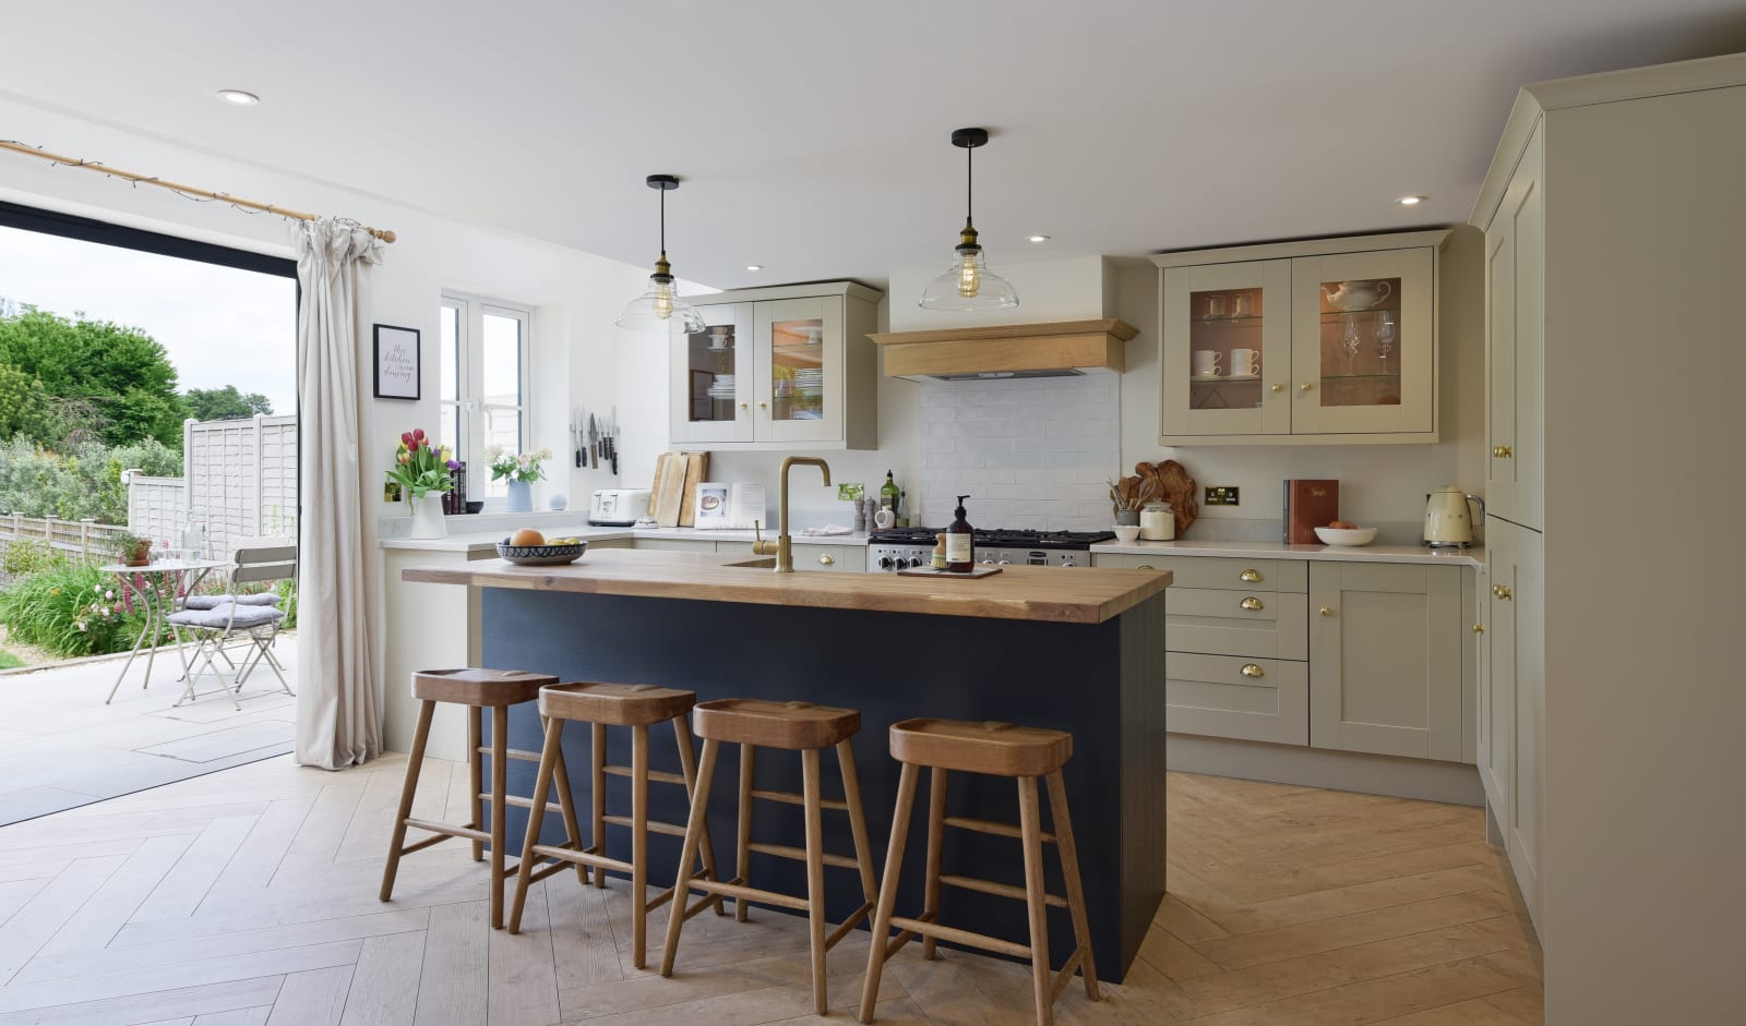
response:
[[(751, 565), (749, 565), (751, 564)], [(882, 612), (929, 612), (1049, 623), (1103, 623), (1170, 585), (1165, 571), (1006, 567), (976, 579), (897, 574), (777, 574), (768, 558), (639, 550), (597, 550), (560, 567), (517, 567), (503, 560), (407, 567), (405, 581), (636, 595), (693, 602), (808, 605)]]

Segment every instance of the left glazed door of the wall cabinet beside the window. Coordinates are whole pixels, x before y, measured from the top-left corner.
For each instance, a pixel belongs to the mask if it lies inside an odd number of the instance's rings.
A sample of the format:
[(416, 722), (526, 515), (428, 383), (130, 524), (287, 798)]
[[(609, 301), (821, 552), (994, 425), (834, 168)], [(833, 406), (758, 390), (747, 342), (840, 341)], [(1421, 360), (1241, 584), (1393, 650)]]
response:
[(751, 441), (753, 304), (697, 307), (707, 328), (672, 335), (674, 441)]

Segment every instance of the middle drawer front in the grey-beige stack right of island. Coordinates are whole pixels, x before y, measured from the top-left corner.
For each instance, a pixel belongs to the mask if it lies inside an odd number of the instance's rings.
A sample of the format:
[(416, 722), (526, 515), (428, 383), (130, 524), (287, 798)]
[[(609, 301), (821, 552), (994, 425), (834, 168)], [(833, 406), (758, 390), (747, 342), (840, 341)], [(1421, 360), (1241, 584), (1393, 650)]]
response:
[(1310, 658), (1304, 595), (1173, 586), (1165, 592), (1165, 644), (1172, 653)]

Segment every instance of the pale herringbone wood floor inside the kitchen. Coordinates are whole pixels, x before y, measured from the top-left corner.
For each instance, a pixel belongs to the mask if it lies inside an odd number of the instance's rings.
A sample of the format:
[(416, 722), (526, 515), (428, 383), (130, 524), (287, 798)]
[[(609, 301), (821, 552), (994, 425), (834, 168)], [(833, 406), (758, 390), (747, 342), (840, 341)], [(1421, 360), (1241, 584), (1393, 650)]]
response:
[[(403, 770), (281, 757), (0, 829), (0, 1024), (817, 1021), (793, 916), (700, 916), (663, 981), (630, 967), (623, 885), (555, 876), (510, 937), (450, 841), (379, 904)], [(416, 815), (461, 820), (464, 799), (464, 766), (428, 763)], [(1173, 775), (1170, 881), (1130, 977), (1096, 1005), (1070, 988), (1060, 1023), (1540, 1021), (1538, 947), (1477, 810)], [(1030, 1019), (1025, 968), (941, 954), (904, 949), (880, 1021)], [(864, 958), (866, 932), (831, 953), (831, 1019)]]

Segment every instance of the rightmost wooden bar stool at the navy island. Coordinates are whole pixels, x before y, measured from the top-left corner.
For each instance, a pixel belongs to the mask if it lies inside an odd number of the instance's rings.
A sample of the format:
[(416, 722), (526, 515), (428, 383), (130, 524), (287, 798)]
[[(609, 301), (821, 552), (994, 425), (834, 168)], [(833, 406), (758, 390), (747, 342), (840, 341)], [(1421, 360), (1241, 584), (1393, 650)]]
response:
[[(922, 958), (934, 956), (936, 940), (971, 944), (985, 951), (999, 951), (1030, 960), (1030, 977), (1037, 1000), (1037, 1024), (1055, 1023), (1055, 998), (1067, 989), (1074, 970), (1084, 977), (1086, 995), (1098, 1000), (1096, 963), (1091, 960), (1091, 930), (1086, 925), (1086, 900), (1079, 886), (1079, 853), (1074, 848), (1074, 825), (1067, 813), (1067, 785), (1062, 766), (1074, 754), (1074, 736), (1065, 731), (1013, 726), (1009, 722), (964, 722), (950, 719), (906, 719), (890, 728), (890, 756), (903, 763), (897, 778), (897, 811), (890, 824), (890, 850), (885, 853), (885, 879), (880, 886), (878, 914), (873, 920), (873, 946), (868, 949), (868, 975), (861, 991), (863, 1023), (873, 1021), (873, 1002), (878, 998), (880, 974), (885, 960), (896, 954), (911, 937), (920, 935)], [(932, 770), (927, 799), (927, 883), (922, 914), (915, 920), (892, 916), (897, 899), (897, 874), (903, 865), (903, 845), (910, 834), (910, 813), (915, 810), (915, 785), (920, 768)], [(946, 813), (946, 775), (952, 770), (1018, 778), (1018, 829)], [(1049, 818), (1055, 832), (1039, 824), (1037, 776), (1049, 782)], [(941, 874), (939, 857), (945, 827), (960, 827), (1002, 838), (1018, 838), (1025, 846), (1025, 886), (993, 883), (971, 876)], [(1062, 876), (1067, 897), (1042, 890), (1042, 843), (1053, 841), (1062, 855)], [(939, 918), (939, 885), (978, 890), (999, 897), (1023, 900), (1030, 909), (1030, 946), (1000, 940), (945, 927)], [(1049, 979), (1049, 925), (1046, 909), (1067, 907), (1074, 921), (1077, 947), (1060, 975)], [(901, 934), (887, 942), (890, 928)]]

